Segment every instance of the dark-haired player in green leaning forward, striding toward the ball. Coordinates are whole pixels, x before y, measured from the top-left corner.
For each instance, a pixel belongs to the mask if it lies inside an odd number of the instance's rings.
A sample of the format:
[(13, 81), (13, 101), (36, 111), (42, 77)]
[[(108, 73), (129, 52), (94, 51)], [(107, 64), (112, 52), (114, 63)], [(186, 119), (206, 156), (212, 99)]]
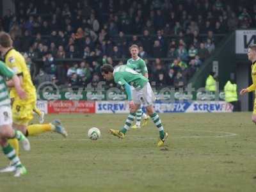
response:
[[(152, 118), (154, 124), (159, 129), (160, 141), (157, 143), (158, 147), (162, 147), (166, 142), (168, 133), (164, 132), (162, 122), (154, 111), (153, 103), (156, 97), (152, 91), (148, 79), (127, 65), (116, 67), (115, 70), (112, 65), (103, 65), (101, 73), (106, 81), (115, 80), (115, 83), (124, 86), (125, 92), (128, 95), (130, 113), (125, 121), (125, 125), (121, 130), (110, 129), (109, 131), (118, 138), (124, 138), (125, 133), (131, 127), (132, 122), (136, 116), (136, 111), (141, 108), (141, 104), (147, 109), (148, 115)], [(134, 87), (133, 92), (131, 86)]]

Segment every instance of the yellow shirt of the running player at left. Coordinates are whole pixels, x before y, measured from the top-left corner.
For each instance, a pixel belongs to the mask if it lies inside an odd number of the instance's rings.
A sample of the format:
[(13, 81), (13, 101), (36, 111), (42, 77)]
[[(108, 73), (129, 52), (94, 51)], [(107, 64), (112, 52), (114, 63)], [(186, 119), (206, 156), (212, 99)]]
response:
[[(28, 66), (26, 65), (25, 58), (22, 56), (22, 54), (20, 54), (20, 52), (16, 51), (15, 49), (10, 49), (8, 52), (6, 52), (4, 60), (6, 65), (12, 68), (13, 72), (17, 76), (22, 76), (22, 88), (24, 88), (28, 97), (26, 100), (35, 100), (36, 89), (31, 81), (30, 72), (28, 70)], [(11, 88), (10, 97), (19, 98), (15, 88)]]

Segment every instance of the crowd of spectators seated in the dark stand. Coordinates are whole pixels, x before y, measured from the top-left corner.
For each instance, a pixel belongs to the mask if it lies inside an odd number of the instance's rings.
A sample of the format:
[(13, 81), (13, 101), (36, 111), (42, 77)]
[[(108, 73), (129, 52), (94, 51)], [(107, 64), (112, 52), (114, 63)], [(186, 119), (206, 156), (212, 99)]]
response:
[(255, 24), (256, 4), (248, 1), (20, 0), (15, 14), (0, 19), (0, 30), (38, 66), (36, 84), (97, 84), (100, 66), (125, 64), (129, 46), (137, 44), (150, 81), (180, 88), (221, 35)]

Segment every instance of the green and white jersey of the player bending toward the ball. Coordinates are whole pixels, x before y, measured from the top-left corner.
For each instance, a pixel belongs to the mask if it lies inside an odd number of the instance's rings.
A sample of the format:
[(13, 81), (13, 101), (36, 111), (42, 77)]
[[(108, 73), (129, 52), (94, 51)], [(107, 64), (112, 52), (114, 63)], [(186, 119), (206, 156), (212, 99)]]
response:
[(114, 70), (115, 83), (124, 85), (125, 83), (134, 86), (134, 88), (141, 89), (148, 82), (148, 79), (127, 65), (121, 65)]

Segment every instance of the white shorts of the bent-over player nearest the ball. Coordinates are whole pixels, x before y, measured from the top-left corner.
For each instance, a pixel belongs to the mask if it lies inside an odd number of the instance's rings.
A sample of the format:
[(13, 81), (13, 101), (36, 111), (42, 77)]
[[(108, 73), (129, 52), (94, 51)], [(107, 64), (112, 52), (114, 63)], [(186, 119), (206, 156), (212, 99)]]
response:
[(143, 106), (147, 107), (152, 106), (156, 101), (156, 96), (149, 83), (145, 84), (141, 90), (136, 90), (136, 88), (131, 90), (134, 104), (143, 104)]

